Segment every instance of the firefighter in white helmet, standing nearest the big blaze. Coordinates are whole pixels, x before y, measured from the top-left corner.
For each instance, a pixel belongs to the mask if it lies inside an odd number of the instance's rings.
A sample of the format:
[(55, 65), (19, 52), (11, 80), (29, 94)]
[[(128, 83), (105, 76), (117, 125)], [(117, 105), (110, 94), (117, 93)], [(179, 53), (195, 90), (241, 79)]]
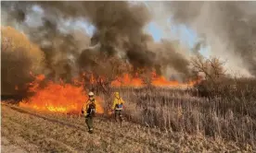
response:
[(94, 97), (94, 92), (89, 92), (89, 100), (83, 104), (82, 113), (85, 117), (85, 123), (88, 126), (89, 133), (93, 134), (93, 118), (96, 115), (96, 100)]

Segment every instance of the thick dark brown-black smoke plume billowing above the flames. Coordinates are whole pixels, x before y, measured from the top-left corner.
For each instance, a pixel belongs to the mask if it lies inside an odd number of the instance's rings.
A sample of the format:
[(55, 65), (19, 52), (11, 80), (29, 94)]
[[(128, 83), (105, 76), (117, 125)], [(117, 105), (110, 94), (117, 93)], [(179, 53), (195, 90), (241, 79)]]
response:
[[(2, 11), (5, 25), (21, 29), (40, 46), (50, 78), (69, 81), (82, 67), (90, 67), (90, 54), (100, 53), (127, 59), (134, 68), (155, 68), (159, 74), (168, 66), (188, 73), (186, 55), (176, 52), (172, 42), (156, 43), (144, 32), (152, 15), (142, 3), (2, 2)], [(74, 26), (78, 20), (96, 27), (92, 37)]]

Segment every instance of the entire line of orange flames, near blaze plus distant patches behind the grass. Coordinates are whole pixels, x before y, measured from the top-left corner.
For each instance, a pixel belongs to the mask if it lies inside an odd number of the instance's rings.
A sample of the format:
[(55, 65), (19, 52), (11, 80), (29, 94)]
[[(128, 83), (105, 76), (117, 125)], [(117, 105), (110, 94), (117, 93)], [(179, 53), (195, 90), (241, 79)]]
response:
[[(32, 74), (31, 74), (32, 75)], [(83, 74), (84, 76), (84, 74)], [(79, 79), (74, 79), (74, 85), (65, 84), (60, 80), (60, 83), (53, 81), (45, 81), (44, 75), (34, 76), (35, 80), (30, 83), (30, 91), (34, 95), (28, 100), (19, 102), (20, 107), (28, 107), (40, 111), (50, 112), (76, 112), (79, 113), (83, 104), (88, 100), (88, 96), (83, 90), (84, 82)], [(103, 79), (100, 78), (100, 79)], [(41, 82), (45, 81), (45, 88), (40, 88)], [(90, 83), (96, 84), (96, 78), (91, 75)], [(181, 84), (178, 81), (169, 81), (163, 76), (157, 76), (152, 73), (151, 85), (156, 87), (189, 87), (193, 86), (196, 81)], [(143, 79), (137, 75), (131, 76), (125, 74), (111, 82), (112, 87), (143, 87)], [(104, 113), (102, 100), (96, 97), (96, 112)]]

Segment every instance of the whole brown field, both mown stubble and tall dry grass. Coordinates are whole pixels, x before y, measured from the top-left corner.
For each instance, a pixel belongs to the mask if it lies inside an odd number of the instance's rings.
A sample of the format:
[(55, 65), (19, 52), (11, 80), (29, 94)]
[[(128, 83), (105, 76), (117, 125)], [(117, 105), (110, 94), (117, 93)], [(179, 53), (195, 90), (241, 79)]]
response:
[[(2, 152), (256, 150), (253, 102), (247, 101), (248, 108), (241, 105), (246, 109), (241, 112), (231, 101), (196, 98), (184, 91), (122, 88), (120, 92), (127, 102), (122, 128), (97, 116), (93, 135), (87, 133), (82, 116), (35, 112), (2, 102)], [(104, 100), (107, 108), (110, 99)]]

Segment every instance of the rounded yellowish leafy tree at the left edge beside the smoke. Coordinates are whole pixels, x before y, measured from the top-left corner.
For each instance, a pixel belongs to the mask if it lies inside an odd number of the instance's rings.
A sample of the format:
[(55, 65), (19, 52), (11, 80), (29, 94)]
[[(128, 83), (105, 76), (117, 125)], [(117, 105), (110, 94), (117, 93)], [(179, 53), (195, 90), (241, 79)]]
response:
[(24, 95), (33, 74), (42, 73), (44, 53), (17, 29), (1, 27), (1, 95)]

